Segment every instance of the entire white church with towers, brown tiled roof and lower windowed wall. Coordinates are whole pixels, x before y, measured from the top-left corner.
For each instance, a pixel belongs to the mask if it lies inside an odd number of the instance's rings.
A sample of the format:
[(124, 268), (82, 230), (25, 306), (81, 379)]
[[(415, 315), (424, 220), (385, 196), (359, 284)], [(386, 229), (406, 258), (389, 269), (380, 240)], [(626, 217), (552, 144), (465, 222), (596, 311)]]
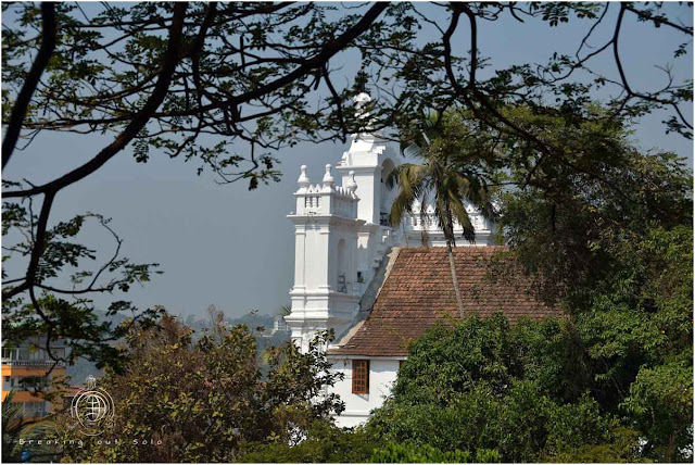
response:
[[(361, 95), (356, 100), (368, 99)], [(344, 374), (332, 388), (345, 402), (339, 426), (364, 423), (381, 406), (407, 357), (408, 342), (444, 315), (457, 314), (446, 251), (437, 248), (444, 238), (435, 223), (422, 225), (416, 211), (403, 225), (389, 225), (397, 186), (390, 189), (386, 179), (405, 162), (391, 146), (379, 134), (356, 134), (334, 167), (328, 164), (325, 173), (313, 174), (303, 165), (296, 206), (288, 215), (295, 252), (292, 311), (285, 319), (303, 350), (317, 331), (334, 331), (327, 355), (333, 369)], [(492, 224), (471, 206), (469, 215), (476, 247), (455, 251), (466, 309), (501, 311), (511, 321), (552, 312), (518, 286), (489, 280), (490, 259), (504, 248), (492, 246)], [(432, 248), (420, 247), (422, 228)], [(462, 239), (460, 246), (471, 244)]]

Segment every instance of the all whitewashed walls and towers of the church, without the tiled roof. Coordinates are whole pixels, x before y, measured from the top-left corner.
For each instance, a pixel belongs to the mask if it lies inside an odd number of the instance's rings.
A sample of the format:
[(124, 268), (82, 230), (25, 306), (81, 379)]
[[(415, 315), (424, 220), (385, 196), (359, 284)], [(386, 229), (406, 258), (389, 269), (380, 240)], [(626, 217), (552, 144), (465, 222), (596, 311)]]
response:
[[(368, 101), (361, 95), (356, 101)], [(291, 338), (303, 350), (314, 335), (333, 329), (340, 347), (363, 322), (388, 273), (388, 253), (396, 246), (419, 246), (427, 228), (430, 246), (443, 246), (435, 224), (422, 225), (416, 213), (400, 228), (388, 226), (390, 205), (397, 187), (389, 188), (390, 172), (405, 160), (379, 134), (352, 136), (350, 149), (333, 167), (328, 164), (320, 183), (313, 184), (307, 168), (300, 168), (295, 210), (288, 218), (294, 224), (294, 286), (290, 291), (292, 312), (285, 319)], [(413, 161), (412, 161), (413, 162)], [(417, 161), (415, 161), (417, 162)], [(336, 175), (341, 179), (336, 180)], [(488, 244), (492, 226), (469, 208), (477, 246)], [(460, 231), (460, 227), (455, 228)], [(460, 234), (458, 235), (460, 236)], [(462, 243), (464, 246), (464, 243)], [(353, 392), (353, 364), (365, 356), (328, 355), (333, 369), (344, 380), (333, 387), (346, 410), (337, 423), (355, 426), (381, 406), (391, 392), (399, 364), (405, 357), (369, 356), (367, 392)]]

